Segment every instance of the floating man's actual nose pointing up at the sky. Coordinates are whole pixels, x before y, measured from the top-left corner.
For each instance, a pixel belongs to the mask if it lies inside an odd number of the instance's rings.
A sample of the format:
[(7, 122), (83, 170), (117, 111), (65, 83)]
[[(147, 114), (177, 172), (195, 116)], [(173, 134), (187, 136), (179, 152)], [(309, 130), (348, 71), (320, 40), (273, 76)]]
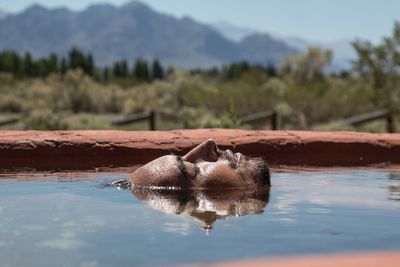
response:
[(218, 159), (218, 146), (213, 139), (208, 139), (190, 150), (183, 159), (189, 162), (196, 162), (197, 160), (204, 161), (217, 161)]

